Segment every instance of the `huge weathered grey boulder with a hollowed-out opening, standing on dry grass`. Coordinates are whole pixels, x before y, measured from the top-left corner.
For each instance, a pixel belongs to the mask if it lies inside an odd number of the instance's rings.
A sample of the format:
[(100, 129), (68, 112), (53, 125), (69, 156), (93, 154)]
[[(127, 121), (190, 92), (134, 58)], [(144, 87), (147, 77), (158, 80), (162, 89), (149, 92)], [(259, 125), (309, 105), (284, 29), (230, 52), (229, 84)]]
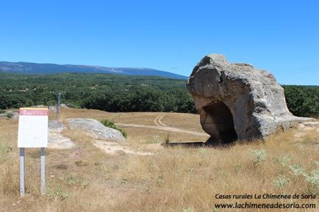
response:
[(288, 111), (284, 89), (271, 73), (250, 64), (230, 63), (223, 55), (202, 58), (187, 87), (212, 142), (265, 138), (311, 120)]

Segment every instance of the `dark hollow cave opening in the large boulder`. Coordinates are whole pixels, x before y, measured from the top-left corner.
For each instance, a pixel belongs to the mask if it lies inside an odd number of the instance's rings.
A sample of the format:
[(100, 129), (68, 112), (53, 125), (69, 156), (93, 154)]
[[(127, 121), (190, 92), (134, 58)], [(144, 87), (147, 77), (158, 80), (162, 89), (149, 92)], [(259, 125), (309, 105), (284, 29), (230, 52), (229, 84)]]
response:
[(210, 141), (231, 143), (237, 139), (232, 112), (230, 112), (230, 109), (225, 103), (219, 101), (203, 109), (207, 113), (205, 121), (206, 127), (216, 132), (212, 135), (211, 139), (209, 139)]

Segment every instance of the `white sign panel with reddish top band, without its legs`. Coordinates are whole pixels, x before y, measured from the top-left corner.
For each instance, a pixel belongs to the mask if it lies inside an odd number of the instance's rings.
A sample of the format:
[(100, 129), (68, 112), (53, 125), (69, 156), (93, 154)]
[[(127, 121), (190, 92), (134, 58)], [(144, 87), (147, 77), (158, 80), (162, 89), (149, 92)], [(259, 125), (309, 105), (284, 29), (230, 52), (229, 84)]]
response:
[(46, 148), (48, 146), (47, 108), (20, 108), (18, 148)]

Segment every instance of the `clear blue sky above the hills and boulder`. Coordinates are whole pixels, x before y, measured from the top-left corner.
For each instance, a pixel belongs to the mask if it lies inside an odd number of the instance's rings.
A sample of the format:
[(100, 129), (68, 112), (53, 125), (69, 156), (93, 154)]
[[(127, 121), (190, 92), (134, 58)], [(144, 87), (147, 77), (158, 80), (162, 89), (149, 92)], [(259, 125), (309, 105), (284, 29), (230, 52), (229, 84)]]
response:
[(209, 53), (319, 85), (319, 1), (1, 1), (0, 60), (189, 76)]

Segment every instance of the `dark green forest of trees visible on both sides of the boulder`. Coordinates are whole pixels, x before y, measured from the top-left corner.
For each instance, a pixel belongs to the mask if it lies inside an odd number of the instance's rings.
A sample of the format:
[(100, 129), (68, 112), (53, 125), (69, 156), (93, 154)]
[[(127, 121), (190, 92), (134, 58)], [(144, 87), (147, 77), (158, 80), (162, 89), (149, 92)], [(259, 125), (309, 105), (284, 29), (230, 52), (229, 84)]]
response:
[[(318, 86), (283, 87), (288, 108), (295, 116), (318, 116)], [(186, 80), (99, 73), (0, 73), (0, 109), (55, 105), (56, 91), (64, 91), (62, 103), (69, 107), (108, 112), (197, 113)]]

